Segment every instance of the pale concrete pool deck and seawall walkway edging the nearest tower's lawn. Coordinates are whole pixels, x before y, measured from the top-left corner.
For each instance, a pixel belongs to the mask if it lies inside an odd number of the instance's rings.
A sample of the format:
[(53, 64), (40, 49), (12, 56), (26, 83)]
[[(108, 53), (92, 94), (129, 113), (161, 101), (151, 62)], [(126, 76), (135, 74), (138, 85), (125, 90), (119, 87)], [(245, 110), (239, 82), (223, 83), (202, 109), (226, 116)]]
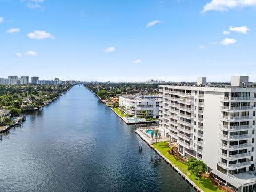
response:
[[(143, 128), (144, 128), (144, 127), (143, 127)], [(148, 127), (148, 129), (150, 129), (150, 127)], [(161, 157), (164, 159), (164, 161), (165, 161), (166, 163), (168, 163), (168, 164), (172, 167), (173, 170), (175, 170), (177, 173), (179, 173), (179, 175), (181, 175), (181, 177), (182, 177), (185, 181), (187, 181), (187, 182), (189, 183), (189, 185), (191, 185), (196, 191), (204, 192), (201, 188), (199, 188), (199, 187), (196, 185), (196, 183), (194, 183), (191, 179), (189, 179), (186, 174), (184, 174), (182, 171), (180, 171), (177, 166), (175, 166), (169, 159), (167, 159), (160, 151), (158, 151), (158, 150), (153, 146), (153, 144), (155, 143), (155, 141), (152, 141), (149, 137), (147, 137), (146, 133), (144, 132), (144, 129), (137, 128), (137, 129), (135, 130), (135, 133), (137, 133), (137, 134), (139, 135), (139, 137), (140, 137), (143, 141), (145, 141), (152, 149), (154, 149), (154, 150), (156, 151), (156, 153), (157, 153), (159, 156), (161, 156)], [(162, 140), (161, 140), (161, 139), (157, 140), (157, 142), (163, 142), (163, 141), (168, 141), (168, 140), (169, 140), (169, 138), (167, 138), (167, 140), (166, 140), (166, 138), (164, 138), (164, 139), (162, 139)]]

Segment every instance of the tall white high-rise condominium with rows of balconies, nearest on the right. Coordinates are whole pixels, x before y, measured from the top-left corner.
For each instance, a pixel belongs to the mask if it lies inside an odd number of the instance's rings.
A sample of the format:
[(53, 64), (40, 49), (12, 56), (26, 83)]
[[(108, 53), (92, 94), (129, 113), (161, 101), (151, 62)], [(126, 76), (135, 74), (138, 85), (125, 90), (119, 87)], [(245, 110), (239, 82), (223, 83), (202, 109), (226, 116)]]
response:
[(256, 189), (256, 88), (248, 76), (231, 86), (160, 85), (159, 130), (187, 158), (202, 159), (207, 172), (235, 191)]

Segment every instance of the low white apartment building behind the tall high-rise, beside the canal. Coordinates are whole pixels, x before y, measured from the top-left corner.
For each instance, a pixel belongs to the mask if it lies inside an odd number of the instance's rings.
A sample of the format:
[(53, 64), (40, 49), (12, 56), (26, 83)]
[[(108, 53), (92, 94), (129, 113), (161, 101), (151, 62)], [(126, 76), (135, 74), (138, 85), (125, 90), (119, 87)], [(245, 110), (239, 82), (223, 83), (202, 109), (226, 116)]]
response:
[(160, 99), (161, 96), (159, 95), (120, 96), (119, 106), (124, 106), (125, 113), (134, 115), (134, 117), (142, 117), (147, 111), (148, 117), (157, 118), (159, 116)]

